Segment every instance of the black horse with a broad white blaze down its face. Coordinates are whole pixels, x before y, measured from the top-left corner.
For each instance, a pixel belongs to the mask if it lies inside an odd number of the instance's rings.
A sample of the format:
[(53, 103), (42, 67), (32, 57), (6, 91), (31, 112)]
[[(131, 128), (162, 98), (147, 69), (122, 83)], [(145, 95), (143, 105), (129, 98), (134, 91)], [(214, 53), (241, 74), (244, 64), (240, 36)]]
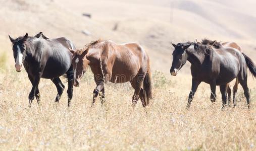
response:
[(66, 73), (68, 81), (68, 106), (73, 97), (73, 67), (71, 63), (72, 54), (69, 47), (75, 48), (68, 39), (61, 37), (44, 40), (42, 38), (25, 36), (16, 39), (9, 35), (12, 42), (15, 68), (17, 72), (22, 69), (22, 63), (32, 84), (29, 93), (29, 108), (36, 97), (37, 104), (40, 102), (38, 84), (41, 78), (50, 79), (56, 86), (58, 94), (55, 101), (58, 103), (64, 91), (64, 85), (60, 76)]

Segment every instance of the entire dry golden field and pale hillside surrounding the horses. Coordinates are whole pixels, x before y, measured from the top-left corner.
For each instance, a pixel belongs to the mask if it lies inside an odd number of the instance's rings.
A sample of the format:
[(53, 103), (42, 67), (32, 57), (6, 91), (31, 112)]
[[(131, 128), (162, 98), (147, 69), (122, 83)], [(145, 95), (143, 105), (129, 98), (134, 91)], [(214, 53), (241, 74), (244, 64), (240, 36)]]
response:
[[(173, 43), (210, 38), (235, 41), (256, 62), (253, 0), (0, 0), (0, 150), (256, 150), (256, 82), (248, 77), (251, 110), (238, 88), (236, 108), (221, 110), (201, 84), (186, 110), (189, 63), (171, 77)], [(82, 16), (89, 13), (92, 18)], [(117, 25), (117, 29), (113, 28)], [(138, 42), (152, 67), (150, 105), (131, 107), (130, 84), (106, 84), (106, 103), (91, 107), (95, 84), (87, 71), (67, 108), (67, 83), (59, 104), (50, 80), (39, 84), (41, 105), (28, 108), (32, 85), (18, 73), (13, 38), (42, 31), (80, 48), (92, 40)], [(86, 31), (88, 35), (83, 32)], [(64, 79), (62, 79), (64, 81)]]

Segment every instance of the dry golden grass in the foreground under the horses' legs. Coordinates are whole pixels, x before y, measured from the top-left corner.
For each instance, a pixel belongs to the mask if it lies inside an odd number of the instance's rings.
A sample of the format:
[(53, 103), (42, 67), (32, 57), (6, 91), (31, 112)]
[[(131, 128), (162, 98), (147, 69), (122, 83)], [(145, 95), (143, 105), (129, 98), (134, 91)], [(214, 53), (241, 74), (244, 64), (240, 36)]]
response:
[[(143, 109), (133, 109), (129, 84), (106, 86), (107, 102), (97, 100), (90, 107), (94, 83), (88, 72), (74, 90), (67, 108), (64, 93), (54, 104), (56, 88), (41, 80), (41, 106), (28, 106), (31, 84), (25, 71), (7, 70), (0, 74), (0, 150), (255, 150), (256, 114), (252, 86), (252, 109), (245, 100), (221, 111), (220, 93), (210, 102), (209, 86), (202, 85), (186, 110), (190, 75), (171, 77), (153, 73), (153, 100)], [(251, 77), (249, 78), (251, 79)], [(251, 84), (250, 80), (250, 84)], [(65, 84), (67, 85), (67, 84)], [(67, 87), (66, 87), (67, 88)]]

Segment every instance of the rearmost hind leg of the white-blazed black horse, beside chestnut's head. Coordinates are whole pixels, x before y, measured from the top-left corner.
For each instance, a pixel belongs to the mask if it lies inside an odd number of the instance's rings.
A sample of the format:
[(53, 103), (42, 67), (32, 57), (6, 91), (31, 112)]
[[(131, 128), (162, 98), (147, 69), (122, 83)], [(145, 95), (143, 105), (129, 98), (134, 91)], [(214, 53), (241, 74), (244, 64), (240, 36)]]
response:
[[(66, 72), (67, 78), (68, 78), (68, 107), (71, 105), (71, 100), (73, 98), (73, 77), (74, 77), (74, 71), (72, 65), (70, 66), (69, 70)], [(63, 87), (64, 88), (64, 87)]]

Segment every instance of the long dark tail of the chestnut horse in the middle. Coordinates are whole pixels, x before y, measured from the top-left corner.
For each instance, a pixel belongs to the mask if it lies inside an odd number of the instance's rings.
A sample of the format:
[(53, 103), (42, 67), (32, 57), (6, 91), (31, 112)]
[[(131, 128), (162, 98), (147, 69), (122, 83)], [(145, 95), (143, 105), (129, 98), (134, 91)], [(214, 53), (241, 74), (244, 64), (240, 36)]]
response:
[(143, 81), (143, 90), (144, 90), (144, 98), (146, 105), (149, 104), (149, 100), (152, 99), (152, 89), (151, 89), (151, 75), (150, 71), (148, 71), (145, 75)]

